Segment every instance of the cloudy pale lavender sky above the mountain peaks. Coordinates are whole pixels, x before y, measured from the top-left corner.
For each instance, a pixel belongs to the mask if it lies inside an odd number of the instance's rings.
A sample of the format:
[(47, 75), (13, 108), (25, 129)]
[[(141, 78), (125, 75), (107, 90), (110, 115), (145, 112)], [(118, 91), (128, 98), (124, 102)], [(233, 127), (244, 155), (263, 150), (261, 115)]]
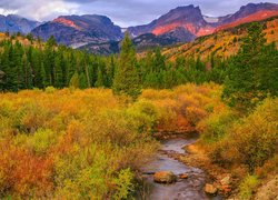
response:
[[(262, 0), (0, 0), (0, 14), (38, 21), (67, 14), (103, 14), (121, 27), (149, 23), (179, 6), (199, 6), (202, 14), (219, 17)], [(267, 0), (278, 3), (278, 0)]]

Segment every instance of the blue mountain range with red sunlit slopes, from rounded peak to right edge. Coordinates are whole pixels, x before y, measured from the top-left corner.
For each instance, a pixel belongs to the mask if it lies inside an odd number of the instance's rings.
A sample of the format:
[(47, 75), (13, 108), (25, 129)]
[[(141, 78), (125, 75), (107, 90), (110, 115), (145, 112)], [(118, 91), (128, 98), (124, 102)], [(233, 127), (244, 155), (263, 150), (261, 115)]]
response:
[(32, 33), (43, 40), (54, 36), (59, 43), (107, 54), (118, 52), (125, 31), (131, 34), (140, 51), (190, 42), (202, 36), (275, 16), (278, 16), (276, 3), (249, 3), (224, 17), (203, 16), (199, 7), (190, 4), (172, 9), (148, 24), (127, 29), (121, 29), (105, 16), (61, 16), (34, 28)]

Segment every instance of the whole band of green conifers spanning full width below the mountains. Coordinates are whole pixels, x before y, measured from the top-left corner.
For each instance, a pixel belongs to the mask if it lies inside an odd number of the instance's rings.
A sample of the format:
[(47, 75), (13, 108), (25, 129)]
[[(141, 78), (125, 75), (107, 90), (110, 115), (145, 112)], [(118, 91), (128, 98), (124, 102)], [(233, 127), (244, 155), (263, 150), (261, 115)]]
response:
[[(120, 54), (110, 57), (58, 46), (53, 37), (36, 46), (24, 46), (17, 37), (10, 37), (0, 42), (0, 91), (49, 86), (58, 89), (101, 87), (113, 88), (116, 93), (125, 90), (127, 94), (138, 96), (147, 88), (170, 89), (188, 82), (212, 81), (226, 82), (224, 96), (256, 90), (251, 96), (264, 99), (277, 92), (278, 62), (276, 44), (266, 44), (262, 29), (258, 22), (250, 23), (249, 36), (242, 39), (242, 48), (234, 57), (220, 59), (211, 52), (205, 60), (197, 54), (195, 58), (178, 57), (173, 62), (159, 48), (137, 56), (128, 34)], [(36, 42), (31, 36), (27, 39)], [(231, 104), (235, 98), (229, 99)], [(237, 101), (245, 100), (238, 98)]]

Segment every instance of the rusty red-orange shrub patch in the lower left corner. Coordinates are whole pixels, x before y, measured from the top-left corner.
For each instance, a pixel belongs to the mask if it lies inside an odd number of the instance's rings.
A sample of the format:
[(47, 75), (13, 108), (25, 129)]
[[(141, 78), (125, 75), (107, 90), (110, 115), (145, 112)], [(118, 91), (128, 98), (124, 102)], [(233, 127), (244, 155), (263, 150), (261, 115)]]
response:
[(21, 197), (46, 197), (53, 190), (51, 158), (37, 157), (8, 142), (0, 146), (0, 174), (3, 180), (0, 188), (3, 191), (11, 188)]

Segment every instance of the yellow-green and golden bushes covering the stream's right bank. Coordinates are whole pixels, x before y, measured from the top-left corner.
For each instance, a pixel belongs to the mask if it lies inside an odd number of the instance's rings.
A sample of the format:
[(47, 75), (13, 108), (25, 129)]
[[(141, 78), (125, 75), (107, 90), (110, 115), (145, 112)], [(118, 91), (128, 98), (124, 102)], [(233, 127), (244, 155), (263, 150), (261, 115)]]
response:
[(232, 111), (225, 109), (200, 122), (201, 140), (212, 161), (244, 164), (254, 173), (272, 159), (278, 151), (277, 103), (277, 98), (268, 98), (245, 118), (235, 118)]

